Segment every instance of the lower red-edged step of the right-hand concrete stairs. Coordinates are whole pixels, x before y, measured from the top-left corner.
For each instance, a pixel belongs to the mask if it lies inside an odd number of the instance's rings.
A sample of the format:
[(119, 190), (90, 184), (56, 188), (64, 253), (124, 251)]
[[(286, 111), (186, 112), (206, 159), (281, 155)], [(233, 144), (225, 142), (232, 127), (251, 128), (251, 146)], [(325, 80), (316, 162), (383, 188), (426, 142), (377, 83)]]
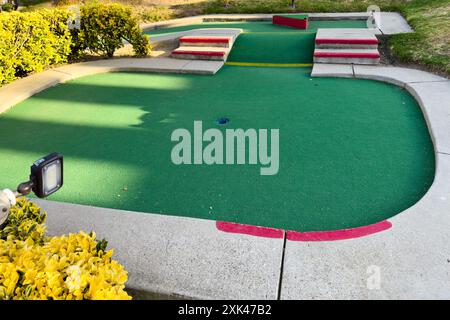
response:
[(315, 49), (314, 63), (378, 64), (377, 49)]

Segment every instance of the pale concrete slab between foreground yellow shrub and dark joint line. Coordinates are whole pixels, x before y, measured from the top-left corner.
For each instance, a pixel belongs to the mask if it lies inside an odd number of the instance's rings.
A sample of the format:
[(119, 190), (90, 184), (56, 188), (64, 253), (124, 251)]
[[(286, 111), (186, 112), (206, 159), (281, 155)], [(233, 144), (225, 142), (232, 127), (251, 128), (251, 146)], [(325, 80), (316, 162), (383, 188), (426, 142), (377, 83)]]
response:
[(210, 220), (33, 201), (47, 211), (50, 235), (95, 230), (105, 237), (133, 290), (196, 299), (277, 299), (283, 239), (219, 232)]

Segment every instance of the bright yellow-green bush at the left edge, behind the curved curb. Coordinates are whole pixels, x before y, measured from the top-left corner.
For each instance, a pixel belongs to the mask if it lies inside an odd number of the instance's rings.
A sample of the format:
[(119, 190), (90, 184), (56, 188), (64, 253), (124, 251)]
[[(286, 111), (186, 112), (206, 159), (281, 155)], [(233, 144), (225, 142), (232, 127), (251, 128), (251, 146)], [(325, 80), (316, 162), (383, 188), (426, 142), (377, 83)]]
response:
[(62, 10), (0, 14), (0, 84), (67, 61), (71, 35)]

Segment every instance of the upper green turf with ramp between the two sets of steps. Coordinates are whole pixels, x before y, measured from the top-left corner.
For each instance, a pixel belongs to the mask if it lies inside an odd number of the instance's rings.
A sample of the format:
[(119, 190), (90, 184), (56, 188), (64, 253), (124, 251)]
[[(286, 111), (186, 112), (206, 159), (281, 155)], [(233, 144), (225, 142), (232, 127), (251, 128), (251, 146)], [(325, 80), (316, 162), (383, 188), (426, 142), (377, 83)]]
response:
[(366, 28), (362, 20), (310, 21), (307, 30), (273, 25), (271, 22), (201, 23), (151, 30), (157, 36), (200, 28), (240, 28), (244, 30), (228, 57), (228, 62), (312, 63), (318, 28)]

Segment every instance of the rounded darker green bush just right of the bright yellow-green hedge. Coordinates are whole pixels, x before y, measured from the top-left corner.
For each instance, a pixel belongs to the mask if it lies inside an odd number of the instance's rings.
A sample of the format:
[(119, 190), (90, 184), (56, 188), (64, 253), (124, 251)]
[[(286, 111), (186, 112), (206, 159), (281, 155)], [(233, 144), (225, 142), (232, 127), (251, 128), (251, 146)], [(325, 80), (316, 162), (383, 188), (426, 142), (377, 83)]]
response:
[(149, 52), (148, 38), (142, 35), (139, 21), (130, 7), (117, 3), (90, 4), (81, 7), (81, 29), (77, 33), (78, 50), (112, 57), (129, 42), (138, 56)]

